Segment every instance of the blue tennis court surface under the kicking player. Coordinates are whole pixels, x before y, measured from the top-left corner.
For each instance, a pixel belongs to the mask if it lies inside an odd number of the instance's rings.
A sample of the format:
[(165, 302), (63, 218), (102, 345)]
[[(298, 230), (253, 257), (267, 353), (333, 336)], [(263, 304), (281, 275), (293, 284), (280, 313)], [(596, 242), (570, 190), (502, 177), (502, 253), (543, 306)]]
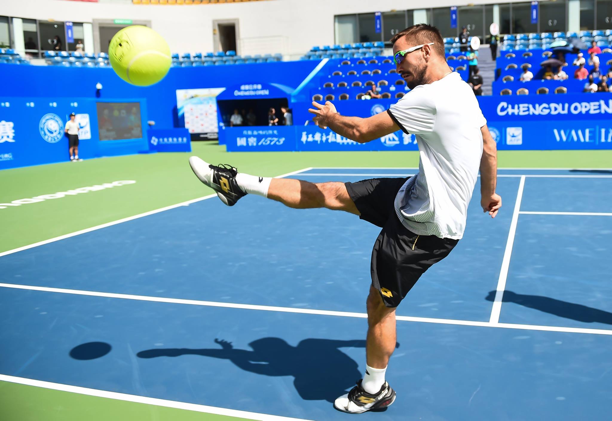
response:
[[(612, 171), (498, 174), (498, 217), (482, 213), (477, 185), (465, 236), (397, 310), (397, 400), (362, 417), (610, 413)], [(0, 374), (253, 419), (346, 419), (332, 402), (364, 371), (378, 232), (343, 212), (212, 198), (0, 256)]]

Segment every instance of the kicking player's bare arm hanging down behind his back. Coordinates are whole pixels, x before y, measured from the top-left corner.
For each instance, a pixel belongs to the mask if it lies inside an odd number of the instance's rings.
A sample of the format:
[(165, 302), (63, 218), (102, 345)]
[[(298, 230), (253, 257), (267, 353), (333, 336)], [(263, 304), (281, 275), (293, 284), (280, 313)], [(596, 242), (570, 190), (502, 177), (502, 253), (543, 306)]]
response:
[(495, 193), (497, 185), (497, 146), (487, 125), (480, 128), (482, 132), (482, 158), (480, 158), (480, 206), (483, 212), (489, 212), (491, 218), (497, 215), (501, 207), (501, 196)]

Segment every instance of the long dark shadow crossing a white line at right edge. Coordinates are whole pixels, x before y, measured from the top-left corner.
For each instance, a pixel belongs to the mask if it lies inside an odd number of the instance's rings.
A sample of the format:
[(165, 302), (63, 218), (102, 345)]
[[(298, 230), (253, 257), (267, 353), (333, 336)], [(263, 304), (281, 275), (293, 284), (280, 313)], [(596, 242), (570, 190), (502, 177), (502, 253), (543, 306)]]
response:
[[(489, 292), (488, 301), (495, 300), (495, 292)], [(534, 310), (550, 313), (551, 315), (564, 317), (584, 323), (604, 323), (612, 324), (612, 313), (598, 310), (597, 308), (587, 307), (582, 304), (574, 304), (567, 301), (556, 300), (550, 297), (529, 296), (516, 294), (512, 291), (504, 291), (502, 302), (511, 302), (533, 308)]]

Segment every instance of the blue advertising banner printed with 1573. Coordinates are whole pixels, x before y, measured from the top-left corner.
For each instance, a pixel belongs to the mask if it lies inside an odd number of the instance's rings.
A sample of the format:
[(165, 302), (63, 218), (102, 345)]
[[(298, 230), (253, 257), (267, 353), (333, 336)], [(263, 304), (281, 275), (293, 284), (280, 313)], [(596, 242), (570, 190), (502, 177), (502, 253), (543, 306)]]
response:
[(219, 130), (219, 142), (228, 152), (296, 151), (293, 125), (225, 127)]

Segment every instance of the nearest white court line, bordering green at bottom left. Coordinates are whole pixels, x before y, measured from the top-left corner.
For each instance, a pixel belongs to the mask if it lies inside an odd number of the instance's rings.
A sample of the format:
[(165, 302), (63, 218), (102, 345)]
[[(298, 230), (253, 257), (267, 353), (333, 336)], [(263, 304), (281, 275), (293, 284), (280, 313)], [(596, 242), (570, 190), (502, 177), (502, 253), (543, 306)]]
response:
[[(215, 195), (216, 196), (216, 195)], [(127, 393), (108, 392), (106, 390), (89, 389), (89, 387), (70, 386), (69, 384), (52, 383), (42, 380), (26, 379), (23, 377), (7, 376), (0, 374), (0, 381), (25, 384), (27, 386), (43, 387), (45, 389), (61, 390), (62, 392), (79, 393), (99, 398), (108, 398), (119, 401), (144, 403), (166, 408), (186, 409), (187, 411), (206, 412), (207, 414), (226, 415), (258, 421), (308, 421), (301, 418), (281, 417), (279, 415), (259, 414), (258, 412), (238, 411), (237, 409), (218, 408), (217, 406), (206, 406), (195, 403), (170, 401), (166, 399), (149, 398)]]

